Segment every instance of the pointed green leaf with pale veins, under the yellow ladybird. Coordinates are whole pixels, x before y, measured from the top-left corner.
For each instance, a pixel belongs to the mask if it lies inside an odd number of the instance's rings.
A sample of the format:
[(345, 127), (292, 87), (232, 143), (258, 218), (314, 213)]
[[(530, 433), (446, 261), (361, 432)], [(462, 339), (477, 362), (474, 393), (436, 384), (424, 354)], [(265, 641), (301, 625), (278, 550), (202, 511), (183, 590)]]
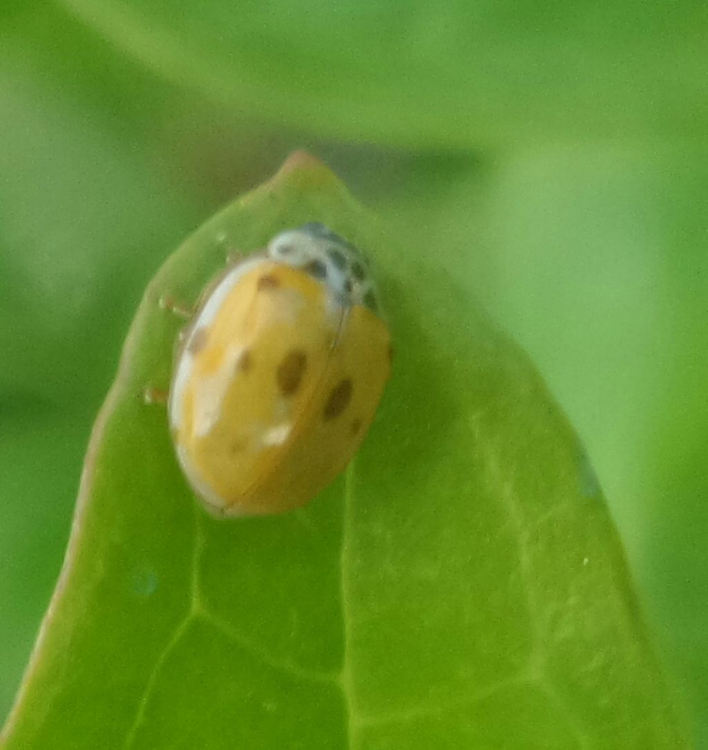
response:
[[(141, 400), (178, 332), (157, 299), (310, 220), (374, 258), (394, 376), (320, 497), (216, 520)], [(434, 252), (306, 154), (190, 237), (98, 419), (4, 750), (685, 746), (588, 458)]]

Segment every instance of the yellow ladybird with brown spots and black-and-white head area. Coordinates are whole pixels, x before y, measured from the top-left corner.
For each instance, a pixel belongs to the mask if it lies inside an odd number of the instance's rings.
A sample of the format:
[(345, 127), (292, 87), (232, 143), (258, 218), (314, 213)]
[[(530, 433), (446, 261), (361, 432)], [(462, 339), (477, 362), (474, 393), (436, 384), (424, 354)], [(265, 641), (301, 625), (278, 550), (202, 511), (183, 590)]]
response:
[(304, 505), (347, 466), (391, 369), (362, 254), (322, 224), (236, 263), (196, 313), (175, 362), (169, 424), (212, 511)]

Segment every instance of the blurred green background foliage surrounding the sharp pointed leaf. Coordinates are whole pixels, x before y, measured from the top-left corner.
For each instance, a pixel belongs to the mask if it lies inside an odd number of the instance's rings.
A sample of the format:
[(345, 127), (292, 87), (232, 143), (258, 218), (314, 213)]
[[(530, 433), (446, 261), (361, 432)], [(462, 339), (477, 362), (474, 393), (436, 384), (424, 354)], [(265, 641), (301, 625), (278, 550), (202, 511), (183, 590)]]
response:
[(704, 4), (237, 5), (0, 5), (0, 715), (145, 284), (304, 147), (529, 351), (708, 747)]

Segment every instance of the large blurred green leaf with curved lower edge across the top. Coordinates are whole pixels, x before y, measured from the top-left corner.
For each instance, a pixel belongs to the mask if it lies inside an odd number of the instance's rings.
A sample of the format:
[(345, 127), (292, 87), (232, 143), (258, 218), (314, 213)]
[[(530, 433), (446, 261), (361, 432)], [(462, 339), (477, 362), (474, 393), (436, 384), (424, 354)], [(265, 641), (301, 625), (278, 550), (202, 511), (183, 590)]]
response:
[(703, 6), (63, 0), (169, 80), (344, 139), (703, 139)]

